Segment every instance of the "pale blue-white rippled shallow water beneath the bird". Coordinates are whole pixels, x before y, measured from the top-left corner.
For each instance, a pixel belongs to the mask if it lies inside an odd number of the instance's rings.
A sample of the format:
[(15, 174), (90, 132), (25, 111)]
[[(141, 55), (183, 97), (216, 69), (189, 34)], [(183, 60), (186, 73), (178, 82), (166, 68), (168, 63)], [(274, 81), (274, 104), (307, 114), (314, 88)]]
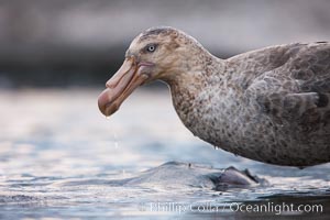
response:
[[(140, 89), (107, 120), (100, 91), (0, 92), (1, 219), (330, 218), (330, 164), (298, 169), (215, 150), (184, 128), (166, 90)], [(270, 186), (217, 191), (189, 173), (143, 173), (169, 161), (249, 168)], [(262, 205), (272, 210), (246, 210)]]

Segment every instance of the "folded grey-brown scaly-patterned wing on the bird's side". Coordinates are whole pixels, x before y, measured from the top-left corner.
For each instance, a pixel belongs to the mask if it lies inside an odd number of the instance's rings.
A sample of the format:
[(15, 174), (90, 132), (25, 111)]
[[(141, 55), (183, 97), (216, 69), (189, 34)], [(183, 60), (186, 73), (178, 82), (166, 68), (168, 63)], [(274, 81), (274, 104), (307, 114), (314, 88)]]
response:
[(288, 45), (285, 54), (287, 61), (254, 78), (246, 94), (253, 94), (261, 111), (279, 123), (329, 125), (330, 44)]

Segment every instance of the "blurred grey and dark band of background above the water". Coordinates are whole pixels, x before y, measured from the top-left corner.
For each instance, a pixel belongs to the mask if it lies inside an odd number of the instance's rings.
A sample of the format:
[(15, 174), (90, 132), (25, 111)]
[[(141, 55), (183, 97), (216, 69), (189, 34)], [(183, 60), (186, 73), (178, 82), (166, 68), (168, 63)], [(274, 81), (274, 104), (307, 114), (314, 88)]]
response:
[(228, 57), (330, 38), (328, 0), (1, 0), (0, 87), (103, 85), (143, 30), (170, 25)]

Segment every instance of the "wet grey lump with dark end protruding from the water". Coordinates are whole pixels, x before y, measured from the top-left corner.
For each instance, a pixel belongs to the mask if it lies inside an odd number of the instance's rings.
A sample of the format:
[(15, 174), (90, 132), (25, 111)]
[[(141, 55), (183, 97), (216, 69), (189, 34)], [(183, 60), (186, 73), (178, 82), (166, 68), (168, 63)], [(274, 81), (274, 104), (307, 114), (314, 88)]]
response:
[(168, 162), (127, 179), (124, 184), (170, 188), (188, 186), (226, 190), (227, 188), (264, 186), (268, 183), (251, 175), (248, 169), (239, 170), (232, 166), (219, 169), (206, 165)]

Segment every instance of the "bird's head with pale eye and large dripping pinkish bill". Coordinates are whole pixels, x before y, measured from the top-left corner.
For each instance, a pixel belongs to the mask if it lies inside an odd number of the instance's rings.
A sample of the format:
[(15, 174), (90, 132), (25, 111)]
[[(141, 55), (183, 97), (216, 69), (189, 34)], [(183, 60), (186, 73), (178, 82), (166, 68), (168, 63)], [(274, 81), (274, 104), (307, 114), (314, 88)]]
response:
[(157, 79), (170, 80), (189, 59), (187, 44), (194, 41), (173, 28), (148, 29), (138, 35), (119, 70), (107, 81), (98, 106), (105, 116), (114, 113), (139, 86)]

